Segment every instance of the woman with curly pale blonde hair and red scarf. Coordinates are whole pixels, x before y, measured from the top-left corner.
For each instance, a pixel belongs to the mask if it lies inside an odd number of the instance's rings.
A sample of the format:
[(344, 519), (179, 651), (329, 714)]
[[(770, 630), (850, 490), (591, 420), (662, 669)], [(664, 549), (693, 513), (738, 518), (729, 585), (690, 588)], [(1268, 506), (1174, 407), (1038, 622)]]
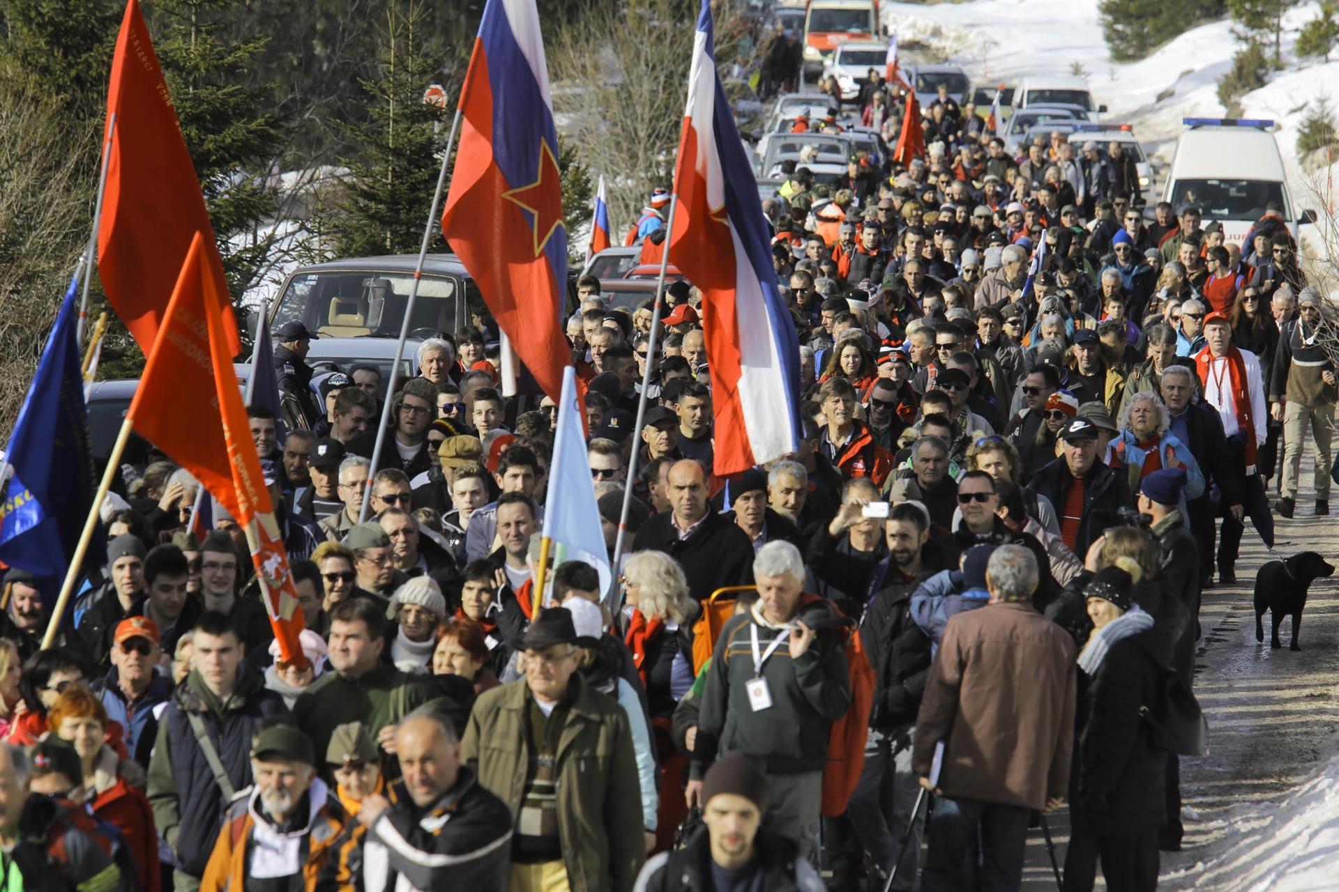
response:
[(674, 714), (692, 685), (692, 634), (698, 606), (679, 563), (660, 551), (639, 551), (623, 568), (623, 641), (647, 689), (651, 717)]

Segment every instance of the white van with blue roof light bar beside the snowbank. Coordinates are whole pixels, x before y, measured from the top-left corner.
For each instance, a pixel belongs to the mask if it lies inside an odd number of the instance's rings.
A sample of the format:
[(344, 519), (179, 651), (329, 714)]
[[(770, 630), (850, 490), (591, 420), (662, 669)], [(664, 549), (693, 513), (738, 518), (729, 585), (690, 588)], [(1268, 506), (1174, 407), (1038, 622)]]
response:
[[(1185, 118), (1162, 199), (1180, 214), (1194, 205), (1204, 222), (1223, 223), (1224, 238), (1240, 243), (1276, 203), (1297, 237), (1299, 214), (1288, 193), (1272, 120)], [(1311, 221), (1311, 214), (1306, 215)]]

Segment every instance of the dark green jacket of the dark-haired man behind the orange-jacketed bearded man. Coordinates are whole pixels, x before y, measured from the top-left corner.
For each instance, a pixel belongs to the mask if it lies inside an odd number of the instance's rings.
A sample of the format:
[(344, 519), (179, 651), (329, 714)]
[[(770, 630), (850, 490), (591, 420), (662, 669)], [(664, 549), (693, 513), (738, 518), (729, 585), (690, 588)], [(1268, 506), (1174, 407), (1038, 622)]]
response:
[(395, 725), (419, 706), (438, 697), (430, 675), (403, 673), (379, 665), (351, 681), (328, 671), (297, 695), (293, 719), (307, 732), (316, 748), (316, 757), (325, 761), (335, 728), (363, 722), (374, 741), (387, 725)]

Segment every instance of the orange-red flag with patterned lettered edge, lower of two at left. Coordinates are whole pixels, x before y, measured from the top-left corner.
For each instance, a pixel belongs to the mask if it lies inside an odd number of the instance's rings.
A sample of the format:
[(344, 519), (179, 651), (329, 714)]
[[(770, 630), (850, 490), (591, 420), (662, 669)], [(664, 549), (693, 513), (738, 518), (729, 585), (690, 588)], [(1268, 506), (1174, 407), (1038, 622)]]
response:
[(226, 342), (232, 305), (208, 253), (195, 233), (126, 417), (237, 519), (280, 659), (305, 665), (297, 641), (303, 612)]

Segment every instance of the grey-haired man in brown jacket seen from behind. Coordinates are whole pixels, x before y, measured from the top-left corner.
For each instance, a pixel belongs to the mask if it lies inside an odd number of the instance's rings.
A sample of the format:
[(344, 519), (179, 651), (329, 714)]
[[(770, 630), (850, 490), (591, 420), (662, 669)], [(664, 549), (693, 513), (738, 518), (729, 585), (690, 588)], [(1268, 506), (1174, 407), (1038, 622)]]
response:
[(1036, 583), (1031, 551), (996, 548), (986, 570), (990, 603), (948, 622), (931, 666), (912, 750), (921, 786), (939, 797), (923, 892), (968, 888), (977, 832), (980, 887), (1018, 888), (1030, 812), (1050, 812), (1065, 797), (1074, 642), (1032, 608)]

